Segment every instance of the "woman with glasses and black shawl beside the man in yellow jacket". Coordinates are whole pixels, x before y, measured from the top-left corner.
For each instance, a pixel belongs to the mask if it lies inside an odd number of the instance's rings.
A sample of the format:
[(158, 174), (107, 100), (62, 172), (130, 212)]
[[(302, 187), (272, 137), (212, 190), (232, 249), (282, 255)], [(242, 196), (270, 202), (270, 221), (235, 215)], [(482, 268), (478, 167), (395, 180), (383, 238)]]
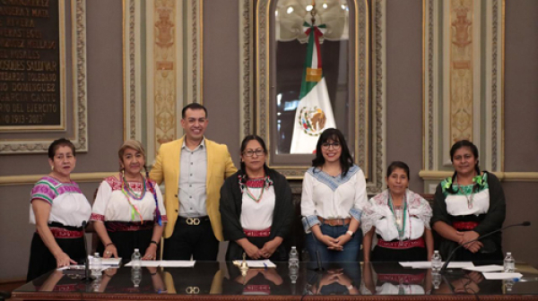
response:
[(267, 168), (267, 149), (257, 135), (241, 142), (241, 169), (221, 187), (221, 222), (230, 241), (226, 260), (288, 260), (282, 242), (293, 222), (291, 188), (285, 176)]

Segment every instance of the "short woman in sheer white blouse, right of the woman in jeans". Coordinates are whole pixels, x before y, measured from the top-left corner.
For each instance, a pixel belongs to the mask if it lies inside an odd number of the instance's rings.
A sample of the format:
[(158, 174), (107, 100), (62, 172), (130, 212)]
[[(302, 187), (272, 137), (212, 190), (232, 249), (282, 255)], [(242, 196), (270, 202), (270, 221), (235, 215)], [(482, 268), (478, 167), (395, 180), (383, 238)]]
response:
[[(430, 261), (433, 254), (430, 204), (407, 189), (409, 167), (395, 161), (386, 169), (388, 189), (362, 211), (364, 262)], [(375, 245), (370, 256), (371, 245)]]

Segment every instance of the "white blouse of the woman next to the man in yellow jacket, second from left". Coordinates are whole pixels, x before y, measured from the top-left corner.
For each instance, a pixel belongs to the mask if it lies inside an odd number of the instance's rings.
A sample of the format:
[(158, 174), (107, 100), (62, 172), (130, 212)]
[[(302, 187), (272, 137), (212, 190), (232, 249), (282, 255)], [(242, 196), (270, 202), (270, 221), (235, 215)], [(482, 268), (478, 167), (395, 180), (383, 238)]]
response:
[[(127, 184), (134, 193), (143, 193), (144, 185), (142, 182), (127, 182)], [(162, 222), (165, 222), (167, 218), (166, 210), (162, 203), (161, 189), (154, 181), (152, 181), (152, 187), (155, 188), (155, 193), (157, 193)], [(131, 196), (127, 199), (126, 194), (122, 192), (122, 181), (115, 176), (108, 176), (101, 182), (97, 191), (95, 202), (93, 202), (91, 220), (140, 222), (140, 215), (142, 215), (143, 220), (154, 220), (156, 218), (156, 208), (155, 198), (149, 185), (146, 185), (146, 192), (143, 194), (142, 200), (135, 200)]]

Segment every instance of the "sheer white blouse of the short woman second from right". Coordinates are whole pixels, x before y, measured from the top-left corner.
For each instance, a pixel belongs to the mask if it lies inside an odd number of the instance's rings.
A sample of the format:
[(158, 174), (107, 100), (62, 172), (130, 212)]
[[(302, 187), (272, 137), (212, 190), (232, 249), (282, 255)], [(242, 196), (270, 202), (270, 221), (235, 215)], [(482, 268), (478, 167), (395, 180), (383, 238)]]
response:
[[(361, 228), (363, 233), (367, 233), (372, 226), (376, 227), (377, 235), (385, 241), (393, 241), (399, 238), (398, 228), (396, 228), (395, 216), (388, 203), (388, 190), (378, 193), (371, 198), (364, 207), (361, 216)], [(407, 210), (404, 212), (404, 240), (417, 239), (424, 234), (424, 228), (430, 229), (431, 208), (428, 201), (424, 200), (420, 194), (406, 190), (405, 200)]]

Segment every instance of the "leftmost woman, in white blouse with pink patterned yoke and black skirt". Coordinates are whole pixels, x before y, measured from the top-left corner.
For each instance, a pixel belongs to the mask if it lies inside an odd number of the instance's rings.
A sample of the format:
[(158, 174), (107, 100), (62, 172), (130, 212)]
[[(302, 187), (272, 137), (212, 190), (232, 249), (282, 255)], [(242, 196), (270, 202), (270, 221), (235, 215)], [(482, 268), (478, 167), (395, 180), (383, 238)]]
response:
[(71, 180), (75, 156), (69, 140), (52, 142), (48, 147), (50, 173), (31, 190), (30, 224), (35, 224), (36, 232), (31, 240), (26, 281), (86, 258), (82, 223), (90, 217), (91, 205)]

